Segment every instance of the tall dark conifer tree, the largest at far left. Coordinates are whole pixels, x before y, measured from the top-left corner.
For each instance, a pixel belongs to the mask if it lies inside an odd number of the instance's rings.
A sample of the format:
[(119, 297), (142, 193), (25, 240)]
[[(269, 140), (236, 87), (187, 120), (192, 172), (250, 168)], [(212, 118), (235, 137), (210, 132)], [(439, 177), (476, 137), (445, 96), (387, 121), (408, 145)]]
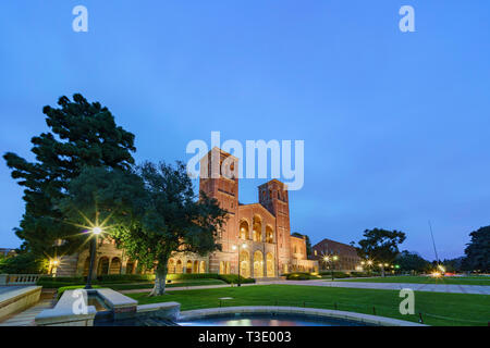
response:
[[(23, 250), (52, 256), (79, 247), (78, 233), (63, 222), (58, 202), (65, 197), (72, 178), (85, 166), (128, 170), (134, 163), (134, 135), (117, 126), (114, 117), (100, 103), (89, 103), (75, 94), (73, 101), (61, 97), (60, 108), (42, 109), (51, 132), (32, 138), (35, 162), (7, 152), (3, 158), (12, 177), (25, 187), (25, 212), (16, 235), (24, 239)], [(58, 240), (64, 244), (57, 244)]]

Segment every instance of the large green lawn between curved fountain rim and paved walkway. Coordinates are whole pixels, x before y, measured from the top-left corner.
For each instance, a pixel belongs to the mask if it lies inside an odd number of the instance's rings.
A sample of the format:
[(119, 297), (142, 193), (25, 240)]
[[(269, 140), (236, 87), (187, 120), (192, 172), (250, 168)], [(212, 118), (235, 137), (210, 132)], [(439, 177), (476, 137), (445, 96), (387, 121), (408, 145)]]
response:
[[(488, 325), (490, 296), (416, 291), (415, 315), (399, 312), (401, 298), (395, 290), (330, 288), (302, 285), (256, 285), (217, 289), (171, 291), (159, 297), (131, 294), (139, 303), (177, 301), (181, 310), (221, 306), (295, 306), (339, 309), (417, 322), (422, 313), (429, 325)], [(220, 300), (220, 297), (232, 297)], [(335, 306), (336, 303), (336, 306)]]

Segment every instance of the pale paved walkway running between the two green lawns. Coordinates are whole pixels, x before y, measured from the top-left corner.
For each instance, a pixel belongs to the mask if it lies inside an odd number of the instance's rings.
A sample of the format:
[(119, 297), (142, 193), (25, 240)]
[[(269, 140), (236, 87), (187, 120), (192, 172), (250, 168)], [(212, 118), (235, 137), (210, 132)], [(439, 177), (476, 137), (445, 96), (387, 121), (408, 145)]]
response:
[[(430, 293), (451, 293), (451, 294), (477, 294), (477, 295), (490, 295), (490, 286), (483, 285), (455, 285), (455, 284), (409, 284), (409, 283), (357, 283), (357, 282), (329, 282), (324, 279), (318, 281), (273, 281), (273, 282), (260, 282), (258, 284), (242, 284), (242, 286), (255, 286), (255, 285), (306, 285), (306, 286), (324, 286), (324, 287), (347, 287), (358, 289), (384, 289), (384, 290), (401, 290), (403, 288), (409, 288), (414, 291), (430, 291)], [(201, 285), (201, 286), (182, 286), (182, 287), (168, 287), (167, 291), (179, 290), (198, 290), (198, 289), (213, 289), (220, 287), (230, 287), (226, 285)], [(122, 290), (122, 294), (136, 294), (148, 293), (150, 289), (132, 289)]]

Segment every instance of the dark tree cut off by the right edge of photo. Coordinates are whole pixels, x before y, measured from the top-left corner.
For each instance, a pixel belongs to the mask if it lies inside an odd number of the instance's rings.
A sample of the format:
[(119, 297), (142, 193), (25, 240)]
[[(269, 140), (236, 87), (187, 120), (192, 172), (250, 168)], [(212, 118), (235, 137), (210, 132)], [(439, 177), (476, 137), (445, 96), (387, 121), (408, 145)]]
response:
[(464, 266), (469, 271), (490, 271), (490, 226), (480, 227), (469, 236), (471, 240), (465, 249)]

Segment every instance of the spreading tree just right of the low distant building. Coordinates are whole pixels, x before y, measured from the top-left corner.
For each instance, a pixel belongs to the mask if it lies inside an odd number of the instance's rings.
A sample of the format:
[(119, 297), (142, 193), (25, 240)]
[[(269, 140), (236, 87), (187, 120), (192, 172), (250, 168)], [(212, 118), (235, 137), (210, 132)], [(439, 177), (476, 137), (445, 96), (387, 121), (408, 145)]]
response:
[[(381, 264), (391, 263), (400, 253), (399, 245), (402, 244), (406, 235), (400, 231), (388, 231), (382, 228), (366, 229), (364, 239), (358, 241), (357, 253), (359, 257), (370, 259)], [(384, 268), (381, 266), (384, 276)]]

